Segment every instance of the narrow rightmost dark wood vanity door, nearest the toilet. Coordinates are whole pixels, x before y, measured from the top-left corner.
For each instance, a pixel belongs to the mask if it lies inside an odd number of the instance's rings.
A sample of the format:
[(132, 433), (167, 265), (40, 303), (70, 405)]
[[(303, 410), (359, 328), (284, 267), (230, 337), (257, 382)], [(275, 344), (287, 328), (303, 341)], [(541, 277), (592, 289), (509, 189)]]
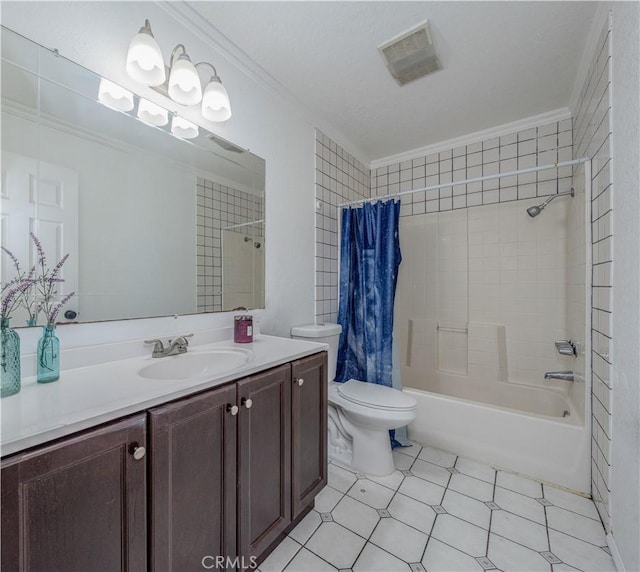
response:
[(292, 520), (327, 484), (327, 354), (292, 364)]

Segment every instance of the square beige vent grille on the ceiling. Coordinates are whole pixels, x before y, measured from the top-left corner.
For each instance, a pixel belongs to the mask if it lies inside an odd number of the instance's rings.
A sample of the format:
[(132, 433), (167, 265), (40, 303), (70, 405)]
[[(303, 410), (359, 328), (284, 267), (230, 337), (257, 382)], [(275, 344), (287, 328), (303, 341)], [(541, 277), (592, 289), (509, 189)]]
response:
[(442, 69), (428, 21), (378, 46), (378, 51), (399, 85)]

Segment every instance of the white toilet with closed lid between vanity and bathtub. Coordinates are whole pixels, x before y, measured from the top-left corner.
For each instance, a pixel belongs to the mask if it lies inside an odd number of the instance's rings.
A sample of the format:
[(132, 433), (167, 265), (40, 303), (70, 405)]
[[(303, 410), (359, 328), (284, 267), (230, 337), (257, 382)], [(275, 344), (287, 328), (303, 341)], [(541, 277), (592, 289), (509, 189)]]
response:
[(356, 471), (389, 475), (394, 470), (389, 429), (411, 423), (416, 400), (398, 389), (350, 379), (333, 381), (338, 359), (339, 324), (291, 328), (291, 337), (329, 345), (329, 457)]

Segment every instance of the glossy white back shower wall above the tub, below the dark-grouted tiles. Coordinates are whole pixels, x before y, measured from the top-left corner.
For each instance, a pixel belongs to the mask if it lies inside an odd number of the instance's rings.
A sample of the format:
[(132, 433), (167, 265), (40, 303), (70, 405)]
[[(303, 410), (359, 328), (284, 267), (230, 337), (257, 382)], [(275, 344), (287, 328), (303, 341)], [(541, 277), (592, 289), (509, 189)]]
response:
[(553, 343), (567, 331), (570, 200), (535, 219), (526, 208), (539, 199), (401, 219), (394, 335), (406, 387), (447, 394), (441, 374), (470, 390), (565, 385), (543, 374), (572, 367)]

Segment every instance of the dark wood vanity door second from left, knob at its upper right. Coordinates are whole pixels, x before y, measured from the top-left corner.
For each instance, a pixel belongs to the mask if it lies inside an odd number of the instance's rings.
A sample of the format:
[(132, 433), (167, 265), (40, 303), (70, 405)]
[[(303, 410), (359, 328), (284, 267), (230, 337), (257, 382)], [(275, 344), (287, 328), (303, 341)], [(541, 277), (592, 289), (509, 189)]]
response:
[(154, 572), (237, 554), (235, 405), (232, 384), (149, 412)]

